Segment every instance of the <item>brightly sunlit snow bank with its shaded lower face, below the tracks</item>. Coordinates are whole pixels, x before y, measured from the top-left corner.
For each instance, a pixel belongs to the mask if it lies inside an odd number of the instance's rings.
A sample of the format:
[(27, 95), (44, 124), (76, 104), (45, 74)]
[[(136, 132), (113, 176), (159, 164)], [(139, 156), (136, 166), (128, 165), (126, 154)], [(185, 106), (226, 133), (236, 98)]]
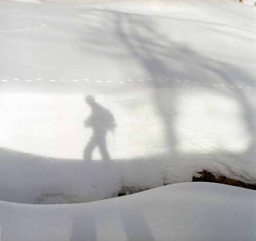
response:
[[(1, 200), (95, 201), (113, 197), (122, 188), (138, 191), (189, 182), (203, 170), (255, 183), (254, 153), (247, 150), (252, 137), (240, 103), (192, 90), (183, 94), (161, 89), (130, 99), (125, 94), (120, 99), (96, 98), (111, 110), (117, 127), (105, 137), (110, 159), (96, 149), (92, 160), (87, 149), (95, 134), (83, 126), (87, 116), (81, 113), (90, 113), (83, 95), (47, 95), (41, 100), (39, 94), (24, 94), (18, 95), (19, 102), (9, 95), (11, 101), (4, 101), (9, 104), (2, 105), (8, 120), (5, 136), (10, 144), (33, 153), (0, 149)], [(104, 116), (97, 112), (96, 118), (104, 126)], [(17, 133), (27, 136), (26, 141), (15, 139)]]

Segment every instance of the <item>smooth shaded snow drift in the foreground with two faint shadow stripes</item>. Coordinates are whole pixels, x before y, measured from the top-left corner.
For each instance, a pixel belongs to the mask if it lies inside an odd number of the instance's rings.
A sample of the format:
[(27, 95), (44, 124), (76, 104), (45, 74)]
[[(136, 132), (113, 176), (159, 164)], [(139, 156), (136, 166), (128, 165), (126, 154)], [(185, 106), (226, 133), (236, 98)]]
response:
[[(180, 183), (82, 204), (2, 202), (4, 241), (254, 241), (256, 192)], [(2, 240), (2, 239), (1, 239)]]

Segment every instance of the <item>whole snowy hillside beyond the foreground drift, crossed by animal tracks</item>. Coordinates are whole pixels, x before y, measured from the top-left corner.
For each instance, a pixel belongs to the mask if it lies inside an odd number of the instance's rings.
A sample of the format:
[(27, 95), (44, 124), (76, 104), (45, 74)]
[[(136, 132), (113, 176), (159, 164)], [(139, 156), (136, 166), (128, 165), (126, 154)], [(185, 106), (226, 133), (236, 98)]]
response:
[(203, 170), (255, 183), (255, 8), (0, 4), (1, 200), (95, 201)]

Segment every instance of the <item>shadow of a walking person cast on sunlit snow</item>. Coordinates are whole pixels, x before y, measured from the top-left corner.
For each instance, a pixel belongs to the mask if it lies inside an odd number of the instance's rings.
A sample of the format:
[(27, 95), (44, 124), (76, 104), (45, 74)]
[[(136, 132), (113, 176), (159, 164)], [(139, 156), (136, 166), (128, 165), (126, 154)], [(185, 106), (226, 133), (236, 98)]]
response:
[(92, 113), (86, 119), (84, 125), (93, 129), (93, 136), (84, 149), (83, 159), (86, 161), (92, 160), (92, 153), (98, 147), (102, 160), (110, 160), (106, 148), (106, 134), (108, 131), (114, 131), (116, 127), (115, 118), (108, 109), (95, 101), (93, 95), (87, 95), (86, 102), (92, 108)]

